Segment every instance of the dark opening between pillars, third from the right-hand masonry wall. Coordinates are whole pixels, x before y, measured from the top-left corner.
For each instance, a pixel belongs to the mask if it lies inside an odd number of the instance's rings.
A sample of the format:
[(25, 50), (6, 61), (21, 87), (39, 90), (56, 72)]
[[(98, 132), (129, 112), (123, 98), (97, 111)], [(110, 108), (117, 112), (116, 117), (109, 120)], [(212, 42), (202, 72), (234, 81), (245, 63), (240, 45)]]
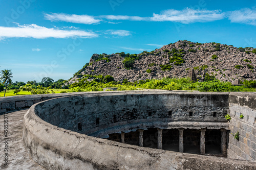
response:
[(179, 152), (179, 130), (164, 129), (162, 132), (163, 150)]

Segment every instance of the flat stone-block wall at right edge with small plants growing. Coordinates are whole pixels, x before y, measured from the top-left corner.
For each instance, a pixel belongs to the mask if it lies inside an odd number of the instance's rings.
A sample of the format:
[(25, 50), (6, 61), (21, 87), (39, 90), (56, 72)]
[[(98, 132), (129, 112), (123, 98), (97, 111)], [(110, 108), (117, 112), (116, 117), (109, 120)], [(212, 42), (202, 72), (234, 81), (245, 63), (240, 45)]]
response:
[(229, 110), (228, 158), (256, 161), (256, 93), (230, 93)]

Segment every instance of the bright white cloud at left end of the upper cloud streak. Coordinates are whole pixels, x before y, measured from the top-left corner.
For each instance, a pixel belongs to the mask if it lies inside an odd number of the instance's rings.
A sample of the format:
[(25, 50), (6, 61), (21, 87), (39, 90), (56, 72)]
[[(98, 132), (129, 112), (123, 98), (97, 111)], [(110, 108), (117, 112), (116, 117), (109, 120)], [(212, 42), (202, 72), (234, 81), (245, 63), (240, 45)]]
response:
[(73, 23), (84, 23), (84, 24), (94, 24), (99, 23), (101, 19), (95, 19), (94, 16), (89, 15), (75, 15), (75, 14), (57, 14), (57, 13), (51, 13), (51, 14), (45, 14), (45, 19), (51, 20), (51, 21), (66, 21), (66, 22), (73, 22)]

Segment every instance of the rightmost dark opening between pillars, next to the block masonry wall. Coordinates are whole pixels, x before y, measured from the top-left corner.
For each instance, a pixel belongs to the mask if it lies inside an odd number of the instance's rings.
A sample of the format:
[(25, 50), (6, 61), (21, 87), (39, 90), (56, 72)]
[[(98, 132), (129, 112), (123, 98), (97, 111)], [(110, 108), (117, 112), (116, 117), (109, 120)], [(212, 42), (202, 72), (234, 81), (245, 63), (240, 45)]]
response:
[(205, 131), (205, 154), (221, 154), (221, 131), (207, 129)]

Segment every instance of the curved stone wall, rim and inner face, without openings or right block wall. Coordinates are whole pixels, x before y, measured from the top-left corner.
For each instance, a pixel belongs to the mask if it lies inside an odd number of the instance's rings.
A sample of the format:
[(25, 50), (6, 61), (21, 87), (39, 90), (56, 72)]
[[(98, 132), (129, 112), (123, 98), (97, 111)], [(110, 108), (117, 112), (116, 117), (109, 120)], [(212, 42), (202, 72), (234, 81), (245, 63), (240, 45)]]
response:
[(94, 137), (179, 125), (228, 129), (224, 118), (228, 107), (228, 93), (132, 91), (69, 96), (33, 105), (24, 117), (23, 141), (32, 158), (47, 169), (255, 169), (256, 164), (249, 161)]

